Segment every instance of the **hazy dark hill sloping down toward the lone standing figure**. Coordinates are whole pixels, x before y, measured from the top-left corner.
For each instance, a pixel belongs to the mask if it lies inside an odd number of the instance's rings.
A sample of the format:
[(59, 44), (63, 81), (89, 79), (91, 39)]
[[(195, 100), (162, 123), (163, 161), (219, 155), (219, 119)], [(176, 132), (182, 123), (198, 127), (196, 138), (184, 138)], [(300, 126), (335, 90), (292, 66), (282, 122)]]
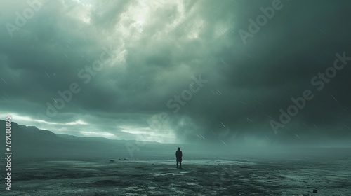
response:
[[(5, 140), (5, 121), (0, 120), (1, 140)], [(4, 144), (4, 142), (1, 142)], [(131, 156), (127, 150), (136, 147)], [(140, 155), (165, 154), (157, 152), (160, 146), (172, 146), (169, 152), (176, 148), (171, 144), (155, 142), (136, 146), (135, 141), (112, 140), (106, 138), (75, 137), (65, 134), (54, 134), (37, 127), (11, 123), (11, 151), (14, 159), (88, 159), (88, 158), (139, 158)], [(167, 147), (168, 148), (168, 147)], [(0, 146), (2, 152), (5, 145)], [(175, 150), (174, 150), (175, 151)]]

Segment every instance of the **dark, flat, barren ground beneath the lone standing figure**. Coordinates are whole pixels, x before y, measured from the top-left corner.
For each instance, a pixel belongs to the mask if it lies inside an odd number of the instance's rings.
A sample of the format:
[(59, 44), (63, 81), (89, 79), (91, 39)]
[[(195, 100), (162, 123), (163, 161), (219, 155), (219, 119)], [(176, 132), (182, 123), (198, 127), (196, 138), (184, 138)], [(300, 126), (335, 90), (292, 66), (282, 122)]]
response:
[(183, 169), (166, 159), (32, 160), (12, 170), (6, 195), (351, 195), (349, 158), (184, 160)]

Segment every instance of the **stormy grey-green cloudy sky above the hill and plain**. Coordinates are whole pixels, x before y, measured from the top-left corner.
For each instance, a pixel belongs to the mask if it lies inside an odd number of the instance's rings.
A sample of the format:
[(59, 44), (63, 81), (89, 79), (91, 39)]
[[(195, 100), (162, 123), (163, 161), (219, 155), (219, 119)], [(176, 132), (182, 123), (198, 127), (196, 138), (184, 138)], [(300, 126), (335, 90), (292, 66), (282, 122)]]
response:
[(350, 144), (351, 1), (0, 2), (0, 116), (56, 134)]

